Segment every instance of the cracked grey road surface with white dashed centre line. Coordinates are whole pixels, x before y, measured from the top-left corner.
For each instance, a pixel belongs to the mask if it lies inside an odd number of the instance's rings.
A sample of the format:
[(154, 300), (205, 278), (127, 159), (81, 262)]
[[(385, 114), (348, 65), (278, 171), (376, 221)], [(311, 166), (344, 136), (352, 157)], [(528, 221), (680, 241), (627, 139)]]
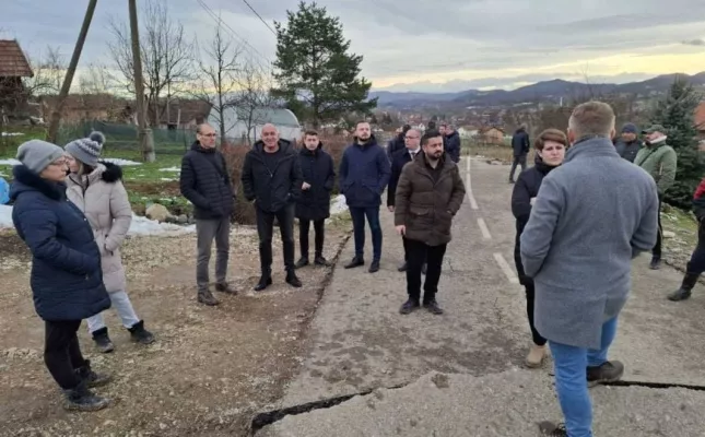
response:
[[(381, 270), (342, 269), (353, 256), (350, 240), (313, 321), (309, 355), (272, 410), (377, 390), (286, 415), (257, 436), (532, 436), (536, 422), (561, 418), (551, 363), (521, 369), (530, 334), (513, 260), (509, 167), (468, 158), (460, 165), (468, 197), (437, 295), (446, 314), (399, 315), (403, 251), (384, 209)], [(670, 303), (665, 295), (681, 274), (651, 271), (648, 261), (646, 255), (634, 261), (632, 297), (611, 351), (636, 387), (592, 391), (596, 435), (705, 436), (705, 416), (696, 412), (705, 393), (672, 387), (705, 387), (705, 290), (698, 285), (688, 303)], [(450, 382), (439, 389), (433, 378)], [(402, 388), (384, 390), (391, 387)]]

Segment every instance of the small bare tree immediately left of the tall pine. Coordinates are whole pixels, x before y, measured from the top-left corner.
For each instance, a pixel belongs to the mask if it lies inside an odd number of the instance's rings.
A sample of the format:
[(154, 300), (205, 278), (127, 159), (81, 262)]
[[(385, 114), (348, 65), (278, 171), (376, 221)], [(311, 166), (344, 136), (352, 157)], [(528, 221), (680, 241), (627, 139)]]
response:
[(274, 103), (270, 94), (272, 78), (249, 61), (239, 70), (236, 80), (238, 92), (233, 104), (238, 120), (245, 123), (246, 140), (251, 144), (257, 140), (256, 127), (268, 121), (268, 111)]

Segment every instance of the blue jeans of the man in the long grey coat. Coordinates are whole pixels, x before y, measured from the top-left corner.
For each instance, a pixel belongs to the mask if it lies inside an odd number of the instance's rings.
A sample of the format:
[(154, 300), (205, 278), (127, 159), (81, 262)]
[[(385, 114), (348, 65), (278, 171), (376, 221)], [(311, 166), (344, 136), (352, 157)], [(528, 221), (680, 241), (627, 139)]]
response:
[(587, 388), (587, 367), (601, 366), (616, 334), (616, 317), (602, 324), (599, 350), (568, 346), (549, 340), (555, 366), (555, 391), (569, 437), (592, 437), (592, 404)]

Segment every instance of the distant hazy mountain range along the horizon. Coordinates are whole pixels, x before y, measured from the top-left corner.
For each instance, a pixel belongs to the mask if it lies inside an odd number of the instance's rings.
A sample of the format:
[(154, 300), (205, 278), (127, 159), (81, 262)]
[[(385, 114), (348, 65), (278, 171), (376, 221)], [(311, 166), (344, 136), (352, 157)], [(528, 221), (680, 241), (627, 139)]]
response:
[(469, 106), (490, 107), (508, 106), (520, 104), (537, 104), (545, 102), (561, 102), (561, 98), (568, 102), (572, 98), (584, 96), (599, 96), (604, 94), (635, 94), (638, 97), (647, 97), (660, 94), (668, 90), (677, 76), (688, 79), (696, 86), (705, 86), (705, 72), (694, 75), (688, 74), (663, 74), (642, 82), (596, 83), (587, 84), (571, 82), (561, 79), (538, 82), (520, 88), (479, 91), (468, 90), (458, 93), (397, 93), (389, 91), (373, 91), (369, 98), (378, 97), (379, 107), (403, 108), (463, 108)]

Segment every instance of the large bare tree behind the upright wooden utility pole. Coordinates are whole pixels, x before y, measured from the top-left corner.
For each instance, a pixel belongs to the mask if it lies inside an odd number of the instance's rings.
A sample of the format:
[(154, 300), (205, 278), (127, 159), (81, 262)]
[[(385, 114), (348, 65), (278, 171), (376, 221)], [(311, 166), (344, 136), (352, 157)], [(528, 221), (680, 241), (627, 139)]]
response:
[[(145, 104), (152, 126), (157, 126), (163, 111), (169, 116), (169, 101), (191, 78), (193, 44), (184, 32), (184, 25), (168, 15), (165, 0), (142, 2), (140, 51), (144, 79)], [(128, 92), (134, 92), (134, 63), (130, 31), (127, 23), (110, 21), (114, 40), (108, 44), (113, 59), (125, 78)], [(164, 110), (160, 98), (166, 93)]]

